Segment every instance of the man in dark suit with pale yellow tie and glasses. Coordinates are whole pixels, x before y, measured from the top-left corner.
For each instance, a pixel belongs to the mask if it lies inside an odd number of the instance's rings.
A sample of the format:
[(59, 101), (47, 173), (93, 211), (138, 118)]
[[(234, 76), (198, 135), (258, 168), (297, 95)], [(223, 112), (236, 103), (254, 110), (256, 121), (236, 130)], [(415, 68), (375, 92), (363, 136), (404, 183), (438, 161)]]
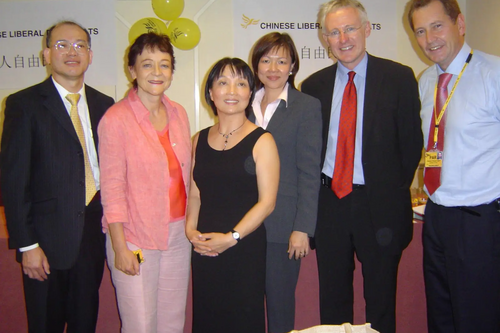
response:
[(97, 125), (113, 99), (84, 84), (90, 35), (46, 34), (52, 76), (7, 98), (1, 187), (30, 332), (95, 332), (104, 269)]

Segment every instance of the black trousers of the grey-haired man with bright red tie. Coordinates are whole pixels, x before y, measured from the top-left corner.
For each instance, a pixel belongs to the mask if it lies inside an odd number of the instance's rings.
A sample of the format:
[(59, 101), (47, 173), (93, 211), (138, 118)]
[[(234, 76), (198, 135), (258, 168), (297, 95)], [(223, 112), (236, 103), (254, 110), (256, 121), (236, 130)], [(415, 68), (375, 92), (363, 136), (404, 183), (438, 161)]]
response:
[(354, 253), (362, 264), (366, 321), (382, 333), (396, 332), (396, 286), (401, 253), (384, 252), (375, 238), (364, 188), (338, 199), (321, 187), (316, 256), (321, 324), (353, 322)]

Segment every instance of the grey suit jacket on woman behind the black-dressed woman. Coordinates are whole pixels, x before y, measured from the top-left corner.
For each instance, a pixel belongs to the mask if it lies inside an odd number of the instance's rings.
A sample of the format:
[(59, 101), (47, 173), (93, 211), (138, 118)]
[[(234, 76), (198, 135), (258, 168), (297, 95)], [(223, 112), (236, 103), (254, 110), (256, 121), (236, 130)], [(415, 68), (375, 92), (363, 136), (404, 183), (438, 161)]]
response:
[[(276, 207), (265, 220), (267, 240), (287, 243), (292, 231), (314, 235), (321, 171), (321, 105), (316, 98), (288, 88), (266, 130), (280, 155)], [(255, 122), (253, 112), (249, 119)]]

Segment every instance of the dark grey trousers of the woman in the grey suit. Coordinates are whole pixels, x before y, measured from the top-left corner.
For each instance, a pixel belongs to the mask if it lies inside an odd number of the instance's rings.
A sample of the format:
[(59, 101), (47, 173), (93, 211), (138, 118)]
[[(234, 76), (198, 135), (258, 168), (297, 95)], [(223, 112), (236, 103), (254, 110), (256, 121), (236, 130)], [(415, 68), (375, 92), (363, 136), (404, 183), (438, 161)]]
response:
[(267, 331), (286, 333), (295, 326), (295, 288), (300, 260), (288, 259), (288, 244), (267, 243), (266, 310)]

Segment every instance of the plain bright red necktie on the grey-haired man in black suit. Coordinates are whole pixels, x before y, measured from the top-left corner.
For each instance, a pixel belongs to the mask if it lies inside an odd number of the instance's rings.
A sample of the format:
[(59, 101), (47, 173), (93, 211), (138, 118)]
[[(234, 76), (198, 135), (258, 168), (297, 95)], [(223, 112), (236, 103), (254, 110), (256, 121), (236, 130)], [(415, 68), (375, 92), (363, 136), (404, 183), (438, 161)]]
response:
[(356, 111), (358, 108), (355, 72), (348, 73), (349, 81), (344, 89), (340, 109), (339, 133), (335, 170), (332, 177), (332, 190), (339, 199), (352, 192), (352, 174), (354, 171), (354, 139), (356, 137)]

